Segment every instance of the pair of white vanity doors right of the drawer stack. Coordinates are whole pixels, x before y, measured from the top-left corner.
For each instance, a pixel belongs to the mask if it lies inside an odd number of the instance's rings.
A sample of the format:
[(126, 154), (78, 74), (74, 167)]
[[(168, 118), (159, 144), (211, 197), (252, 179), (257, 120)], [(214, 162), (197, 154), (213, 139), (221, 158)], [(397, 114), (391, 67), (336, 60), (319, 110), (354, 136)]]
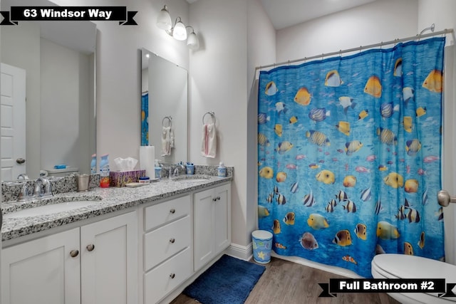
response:
[(231, 184), (193, 197), (193, 259), (198, 271), (231, 243)]

